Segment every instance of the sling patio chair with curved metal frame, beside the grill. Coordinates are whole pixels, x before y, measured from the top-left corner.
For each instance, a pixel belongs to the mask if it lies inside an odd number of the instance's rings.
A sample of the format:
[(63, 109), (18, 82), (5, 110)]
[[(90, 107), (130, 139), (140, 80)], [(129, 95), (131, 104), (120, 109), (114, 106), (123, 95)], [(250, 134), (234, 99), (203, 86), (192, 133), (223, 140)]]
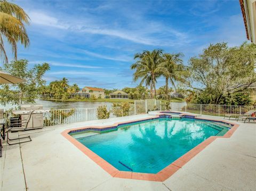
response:
[[(27, 143), (27, 142), (31, 142), (31, 138), (30, 136), (26, 136), (26, 137), (18, 137), (18, 138), (14, 138), (14, 139), (10, 139), (9, 138), (9, 132), (19, 132), (19, 131), (25, 131), (28, 127), (28, 123), (31, 119), (31, 116), (33, 114), (34, 111), (29, 111), (28, 113), (28, 117), (27, 119), (24, 120), (16, 120), (16, 121), (12, 121), (14, 123), (10, 124), (9, 127), (7, 127), (6, 135), (7, 135), (7, 144), (9, 145), (15, 145), (15, 144), (20, 144), (20, 143)], [(19, 136), (19, 135), (18, 135)], [(29, 140), (25, 140), (23, 142), (17, 142), (17, 143), (9, 143), (9, 140), (20, 140), (20, 139), (26, 139), (28, 138)]]

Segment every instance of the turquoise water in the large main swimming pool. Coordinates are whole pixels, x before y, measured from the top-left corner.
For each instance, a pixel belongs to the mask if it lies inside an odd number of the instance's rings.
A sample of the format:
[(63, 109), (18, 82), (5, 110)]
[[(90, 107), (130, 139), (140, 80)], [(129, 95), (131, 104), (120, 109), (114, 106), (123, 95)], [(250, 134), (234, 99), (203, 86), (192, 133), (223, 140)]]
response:
[[(211, 122), (156, 119), (76, 138), (122, 171), (157, 173), (210, 136), (227, 131)], [(74, 136), (75, 137), (75, 136)]]

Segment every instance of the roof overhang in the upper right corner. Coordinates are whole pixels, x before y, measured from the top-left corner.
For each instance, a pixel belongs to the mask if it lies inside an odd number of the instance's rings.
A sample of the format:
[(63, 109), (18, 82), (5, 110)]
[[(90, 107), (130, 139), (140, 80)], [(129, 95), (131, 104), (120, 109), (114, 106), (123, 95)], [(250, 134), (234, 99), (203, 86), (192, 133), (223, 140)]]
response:
[(247, 39), (256, 44), (256, 0), (239, 0)]

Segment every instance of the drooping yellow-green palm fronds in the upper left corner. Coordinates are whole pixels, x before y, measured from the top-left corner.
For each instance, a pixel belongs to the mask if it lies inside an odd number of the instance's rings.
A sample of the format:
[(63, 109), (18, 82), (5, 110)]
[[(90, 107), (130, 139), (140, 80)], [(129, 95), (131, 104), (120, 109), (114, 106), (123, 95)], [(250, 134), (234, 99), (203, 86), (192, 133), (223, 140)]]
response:
[(4, 38), (11, 45), (15, 60), (17, 60), (17, 43), (20, 42), (25, 47), (29, 45), (25, 24), (29, 24), (29, 16), (21, 7), (6, 0), (0, 0), (0, 56), (3, 57), (4, 62), (8, 62)]

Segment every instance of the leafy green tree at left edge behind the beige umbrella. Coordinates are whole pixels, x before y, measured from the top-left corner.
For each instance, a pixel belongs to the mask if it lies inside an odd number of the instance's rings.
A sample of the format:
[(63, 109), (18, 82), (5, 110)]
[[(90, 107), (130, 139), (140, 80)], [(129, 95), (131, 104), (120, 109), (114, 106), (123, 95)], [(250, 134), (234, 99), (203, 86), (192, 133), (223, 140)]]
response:
[(1, 70), (26, 81), (15, 85), (2, 85), (0, 103), (3, 105), (7, 103), (22, 104), (35, 102), (42, 92), (41, 88), (44, 88), (45, 85), (45, 80), (42, 77), (47, 70), (50, 70), (50, 66), (43, 63), (28, 69), (27, 60), (18, 60), (9, 64), (4, 63)]

